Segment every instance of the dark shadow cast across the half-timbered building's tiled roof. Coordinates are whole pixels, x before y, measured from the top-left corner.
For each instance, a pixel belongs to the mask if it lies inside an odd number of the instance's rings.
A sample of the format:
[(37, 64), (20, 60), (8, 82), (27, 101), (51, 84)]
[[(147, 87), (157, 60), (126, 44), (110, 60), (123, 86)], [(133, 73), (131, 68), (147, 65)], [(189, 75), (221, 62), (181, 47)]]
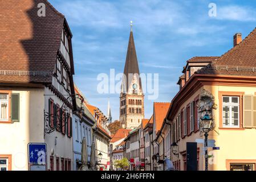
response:
[[(23, 69), (44, 72), (48, 75), (30, 75), (30, 82), (51, 82), (56, 63), (56, 55), (60, 48), (64, 16), (54, 9), (46, 0), (24, 0), (21, 4), (30, 5), (27, 16), (19, 19), (23, 30), (19, 32), (21, 44), (26, 52), (26, 67)], [(45, 6), (45, 9), (44, 9)], [(45, 10), (45, 16), (43, 11)], [(27, 39), (26, 35), (30, 35)]]

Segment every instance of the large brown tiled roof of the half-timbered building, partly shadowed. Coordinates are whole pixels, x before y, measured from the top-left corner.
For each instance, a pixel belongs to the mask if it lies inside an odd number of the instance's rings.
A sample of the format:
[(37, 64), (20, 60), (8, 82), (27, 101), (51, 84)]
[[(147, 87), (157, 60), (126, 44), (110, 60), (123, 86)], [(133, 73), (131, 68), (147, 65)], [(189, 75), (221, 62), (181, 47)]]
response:
[[(45, 17), (38, 16), (39, 3)], [(1, 0), (0, 82), (50, 83), (64, 21), (46, 0)]]

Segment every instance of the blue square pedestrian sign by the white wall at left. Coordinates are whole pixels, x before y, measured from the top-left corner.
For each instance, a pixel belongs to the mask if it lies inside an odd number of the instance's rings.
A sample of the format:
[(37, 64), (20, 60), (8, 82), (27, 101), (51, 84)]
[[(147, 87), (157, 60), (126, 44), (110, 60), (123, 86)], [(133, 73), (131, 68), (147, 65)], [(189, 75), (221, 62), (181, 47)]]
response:
[(27, 148), (29, 164), (46, 164), (46, 143), (29, 143)]

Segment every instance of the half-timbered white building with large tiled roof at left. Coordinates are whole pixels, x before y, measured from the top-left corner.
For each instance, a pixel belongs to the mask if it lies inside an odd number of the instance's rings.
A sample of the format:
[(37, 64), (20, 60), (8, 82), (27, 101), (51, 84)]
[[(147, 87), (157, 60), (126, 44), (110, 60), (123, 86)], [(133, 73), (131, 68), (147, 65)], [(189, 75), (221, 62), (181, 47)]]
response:
[(46, 143), (44, 169), (71, 170), (76, 105), (67, 20), (47, 0), (4, 0), (0, 12), (0, 159), (7, 170), (30, 169), (27, 144)]

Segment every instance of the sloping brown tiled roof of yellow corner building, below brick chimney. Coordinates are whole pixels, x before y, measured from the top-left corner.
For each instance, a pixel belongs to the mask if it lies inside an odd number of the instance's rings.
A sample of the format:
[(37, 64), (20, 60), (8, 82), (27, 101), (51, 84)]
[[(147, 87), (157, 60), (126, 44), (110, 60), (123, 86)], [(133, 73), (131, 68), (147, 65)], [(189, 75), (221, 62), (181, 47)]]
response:
[(256, 28), (239, 43), (207, 67), (200, 74), (256, 76)]

